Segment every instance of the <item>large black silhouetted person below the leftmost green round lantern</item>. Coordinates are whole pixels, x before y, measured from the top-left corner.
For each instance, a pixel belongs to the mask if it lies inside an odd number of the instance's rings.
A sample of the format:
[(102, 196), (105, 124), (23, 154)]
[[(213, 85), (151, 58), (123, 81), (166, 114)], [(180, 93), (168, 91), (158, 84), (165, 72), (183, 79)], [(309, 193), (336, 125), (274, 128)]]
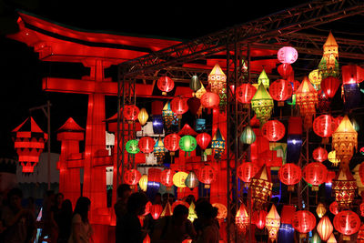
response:
[(126, 215), (116, 223), (116, 243), (142, 243), (147, 236), (147, 225), (142, 228), (139, 216), (146, 210), (147, 196), (136, 192), (127, 199)]

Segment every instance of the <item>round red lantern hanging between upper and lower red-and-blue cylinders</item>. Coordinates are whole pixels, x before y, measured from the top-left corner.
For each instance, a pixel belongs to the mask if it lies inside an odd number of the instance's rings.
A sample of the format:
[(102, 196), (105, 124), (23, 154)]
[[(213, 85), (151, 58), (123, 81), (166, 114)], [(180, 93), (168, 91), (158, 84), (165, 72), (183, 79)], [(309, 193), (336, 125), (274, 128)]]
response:
[(279, 180), (288, 186), (288, 191), (294, 190), (294, 185), (302, 178), (301, 168), (293, 163), (287, 163), (278, 170)]

